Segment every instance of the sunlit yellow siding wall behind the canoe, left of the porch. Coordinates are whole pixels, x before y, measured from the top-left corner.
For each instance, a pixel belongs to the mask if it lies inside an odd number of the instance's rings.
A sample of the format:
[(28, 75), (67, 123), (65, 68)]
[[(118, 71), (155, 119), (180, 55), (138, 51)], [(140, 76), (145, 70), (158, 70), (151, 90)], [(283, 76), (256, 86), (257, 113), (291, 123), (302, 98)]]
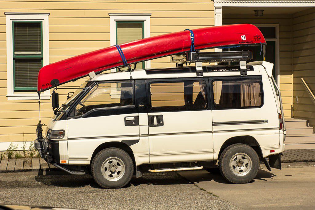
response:
[[(107, 0), (107, 1), (0, 1), (0, 142), (35, 139), (37, 100), (8, 100), (5, 12), (50, 13), (49, 63), (110, 45), (108, 13), (151, 13), (151, 36), (214, 25), (209, 0)], [(151, 67), (169, 66), (169, 58), (153, 60)], [(78, 86), (84, 79), (70, 82)], [(59, 90), (60, 101), (69, 90)], [(42, 122), (53, 115), (51, 101), (42, 100)], [(45, 129), (45, 128), (44, 128)]]

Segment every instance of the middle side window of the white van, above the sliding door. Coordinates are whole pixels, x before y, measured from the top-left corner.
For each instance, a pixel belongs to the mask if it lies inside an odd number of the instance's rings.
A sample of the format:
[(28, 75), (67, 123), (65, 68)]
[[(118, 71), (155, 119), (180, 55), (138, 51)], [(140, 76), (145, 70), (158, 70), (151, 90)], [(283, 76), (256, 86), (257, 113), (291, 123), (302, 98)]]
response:
[(150, 83), (152, 111), (188, 111), (208, 108), (205, 81)]

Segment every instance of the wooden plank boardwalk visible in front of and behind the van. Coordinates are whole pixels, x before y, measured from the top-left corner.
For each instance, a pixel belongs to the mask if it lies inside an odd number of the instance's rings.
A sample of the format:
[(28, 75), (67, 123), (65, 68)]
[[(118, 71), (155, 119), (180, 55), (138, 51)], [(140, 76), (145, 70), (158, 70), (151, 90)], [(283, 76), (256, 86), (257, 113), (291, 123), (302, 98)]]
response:
[[(315, 149), (311, 150), (285, 150), (281, 162), (315, 162)], [(50, 164), (53, 170), (59, 170)], [(48, 164), (42, 158), (3, 159), (0, 162), (0, 173), (48, 171)]]

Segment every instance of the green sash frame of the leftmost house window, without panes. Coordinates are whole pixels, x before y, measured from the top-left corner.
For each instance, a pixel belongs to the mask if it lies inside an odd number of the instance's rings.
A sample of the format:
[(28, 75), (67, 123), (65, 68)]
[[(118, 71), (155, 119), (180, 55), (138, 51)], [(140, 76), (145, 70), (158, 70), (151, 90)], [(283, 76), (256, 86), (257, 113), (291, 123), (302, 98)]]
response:
[[(41, 27), (41, 54), (36, 55), (15, 55), (14, 53), (14, 24), (15, 23), (40, 23)], [(33, 58), (41, 60), (42, 67), (43, 67), (43, 21), (12, 21), (12, 54), (13, 54), (13, 90), (37, 90), (37, 87), (16, 87), (15, 86), (15, 60), (16, 59), (23, 59), (23, 58)], [(37, 79), (37, 78), (36, 78)]]

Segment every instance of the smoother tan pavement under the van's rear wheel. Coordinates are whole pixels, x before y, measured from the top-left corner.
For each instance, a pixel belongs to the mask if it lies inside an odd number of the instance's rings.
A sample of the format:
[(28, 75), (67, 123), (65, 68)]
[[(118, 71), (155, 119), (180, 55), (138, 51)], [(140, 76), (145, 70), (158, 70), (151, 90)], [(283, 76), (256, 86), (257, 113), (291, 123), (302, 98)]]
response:
[(179, 173), (244, 210), (315, 209), (315, 162), (282, 163), (282, 166), (282, 170), (272, 168), (272, 172), (262, 167), (248, 184), (230, 184), (221, 174), (206, 171)]

